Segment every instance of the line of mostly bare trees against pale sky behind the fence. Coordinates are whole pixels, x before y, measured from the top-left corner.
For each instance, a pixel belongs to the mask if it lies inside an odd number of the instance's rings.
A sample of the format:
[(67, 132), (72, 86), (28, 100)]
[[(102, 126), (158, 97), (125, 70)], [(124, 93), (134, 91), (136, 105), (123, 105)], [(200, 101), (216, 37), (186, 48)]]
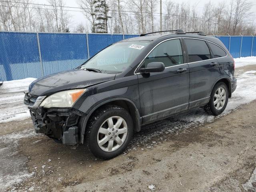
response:
[[(255, 35), (248, 0), (211, 1), (190, 5), (174, 0), (76, 0), (73, 7), (64, 0), (48, 0), (47, 5), (34, 0), (1, 0), (0, 30), (25, 32), (93, 32), (141, 34), (182, 28), (186, 32), (204, 31), (214, 35)], [(72, 13), (82, 12), (84, 22), (74, 26)], [(71, 29), (72, 28), (72, 29)]]

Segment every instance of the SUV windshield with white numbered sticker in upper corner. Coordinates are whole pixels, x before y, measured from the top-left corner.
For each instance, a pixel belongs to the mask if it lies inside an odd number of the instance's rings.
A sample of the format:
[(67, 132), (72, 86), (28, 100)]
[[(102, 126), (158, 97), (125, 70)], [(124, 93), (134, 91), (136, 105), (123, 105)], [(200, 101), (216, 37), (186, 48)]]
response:
[(149, 41), (129, 41), (113, 44), (82, 64), (81, 69), (96, 69), (102, 73), (120, 73), (129, 67)]

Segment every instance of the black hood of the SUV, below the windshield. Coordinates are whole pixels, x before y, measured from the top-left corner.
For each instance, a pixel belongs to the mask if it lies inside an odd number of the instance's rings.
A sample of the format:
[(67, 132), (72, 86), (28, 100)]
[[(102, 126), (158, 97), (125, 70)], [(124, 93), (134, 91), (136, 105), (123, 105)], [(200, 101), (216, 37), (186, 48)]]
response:
[(30, 84), (29, 92), (36, 96), (47, 96), (62, 90), (86, 88), (94, 84), (114, 80), (115, 76), (116, 74), (73, 69), (35, 80)]

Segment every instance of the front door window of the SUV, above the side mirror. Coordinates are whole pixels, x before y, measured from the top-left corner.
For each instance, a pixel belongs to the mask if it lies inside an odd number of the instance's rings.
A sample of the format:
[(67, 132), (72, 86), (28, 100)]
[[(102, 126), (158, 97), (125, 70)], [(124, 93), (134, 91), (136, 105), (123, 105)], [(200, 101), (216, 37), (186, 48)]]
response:
[(147, 56), (142, 66), (146, 67), (150, 62), (163, 62), (165, 67), (183, 64), (180, 40), (168, 40), (158, 45)]

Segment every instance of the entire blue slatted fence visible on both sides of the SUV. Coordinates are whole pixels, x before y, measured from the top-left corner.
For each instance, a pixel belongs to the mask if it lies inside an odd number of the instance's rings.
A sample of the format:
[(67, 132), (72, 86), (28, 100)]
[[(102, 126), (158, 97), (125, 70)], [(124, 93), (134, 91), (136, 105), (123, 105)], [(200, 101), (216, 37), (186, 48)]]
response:
[[(132, 34), (0, 32), (0, 81), (44, 75), (79, 66), (106, 46)], [(255, 36), (216, 36), (234, 58), (256, 56)]]

